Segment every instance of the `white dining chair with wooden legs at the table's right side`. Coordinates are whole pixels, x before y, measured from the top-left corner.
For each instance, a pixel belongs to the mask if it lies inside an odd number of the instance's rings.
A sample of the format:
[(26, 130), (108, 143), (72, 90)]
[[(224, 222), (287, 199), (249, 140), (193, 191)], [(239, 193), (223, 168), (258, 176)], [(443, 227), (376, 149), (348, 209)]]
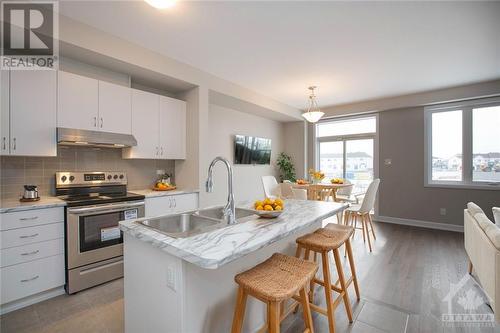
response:
[[(370, 240), (370, 231), (373, 235), (373, 239), (377, 239), (375, 236), (375, 229), (373, 228), (373, 221), (370, 212), (375, 206), (375, 199), (377, 197), (377, 191), (380, 184), (380, 179), (374, 179), (368, 189), (366, 190), (365, 196), (361, 204), (353, 204), (345, 210), (344, 213), (344, 223), (347, 225), (354, 224), (354, 229), (363, 230), (363, 241), (366, 242), (368, 239), (368, 247), (370, 252), (372, 252), (372, 243)], [(357, 227), (358, 219), (361, 221), (361, 228)], [(368, 229), (368, 226), (370, 229)], [(354, 238), (354, 233), (352, 235)]]

